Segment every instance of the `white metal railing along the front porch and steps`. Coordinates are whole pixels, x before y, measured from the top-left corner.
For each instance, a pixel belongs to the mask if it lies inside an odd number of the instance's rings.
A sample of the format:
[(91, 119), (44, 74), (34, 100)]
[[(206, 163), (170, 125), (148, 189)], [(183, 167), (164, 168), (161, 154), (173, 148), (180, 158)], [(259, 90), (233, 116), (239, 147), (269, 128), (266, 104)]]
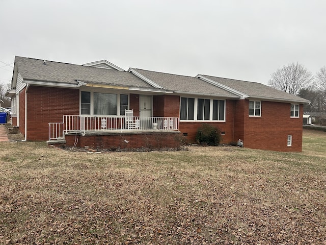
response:
[(49, 123), (49, 140), (63, 139), (68, 132), (179, 130), (178, 117), (64, 115), (63, 122)]

